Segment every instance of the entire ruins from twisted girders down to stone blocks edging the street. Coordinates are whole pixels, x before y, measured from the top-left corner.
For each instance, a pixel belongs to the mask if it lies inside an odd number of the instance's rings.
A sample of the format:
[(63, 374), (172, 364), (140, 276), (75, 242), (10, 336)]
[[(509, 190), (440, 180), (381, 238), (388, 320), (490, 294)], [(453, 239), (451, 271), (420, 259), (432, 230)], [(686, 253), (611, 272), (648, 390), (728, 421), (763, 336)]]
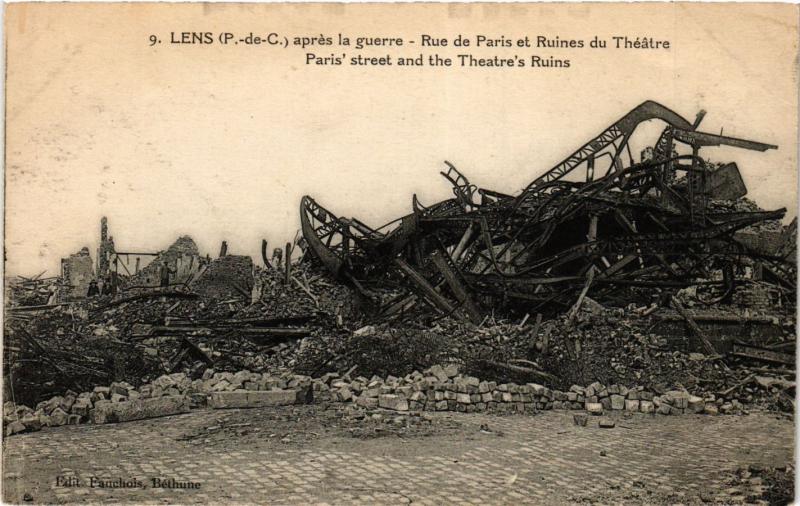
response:
[(304, 403), (793, 413), (796, 218), (705, 156), (777, 146), (704, 115), (644, 102), (515, 194), (446, 163), (452, 198), (378, 228), (306, 196), (301, 233), (255, 263), (186, 236), (123, 251), (104, 218), (94, 259), (7, 281), (5, 434)]

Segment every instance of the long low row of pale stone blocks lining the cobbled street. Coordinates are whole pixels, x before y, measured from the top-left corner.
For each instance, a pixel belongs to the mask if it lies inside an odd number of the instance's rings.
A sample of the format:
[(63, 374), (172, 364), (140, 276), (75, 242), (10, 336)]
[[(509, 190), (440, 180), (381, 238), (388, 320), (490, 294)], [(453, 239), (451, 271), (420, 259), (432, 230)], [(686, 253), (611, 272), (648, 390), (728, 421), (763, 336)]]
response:
[(5, 434), (42, 427), (103, 424), (176, 415), (191, 408), (254, 408), (309, 402), (347, 403), (365, 410), (396, 413), (457, 411), (465, 413), (535, 413), (541, 410), (581, 410), (591, 415), (628, 411), (643, 414), (739, 414), (743, 405), (713, 395), (699, 397), (685, 390), (657, 395), (643, 387), (598, 382), (569, 391), (535, 383), (516, 384), (460, 374), (455, 365), (435, 365), (404, 377), (364, 378), (328, 373), (320, 378), (249, 371), (214, 372), (189, 379), (184, 373), (164, 375), (138, 389), (127, 383), (98, 386), (91, 392), (68, 391), (37, 404), (36, 409), (7, 402), (3, 406)]

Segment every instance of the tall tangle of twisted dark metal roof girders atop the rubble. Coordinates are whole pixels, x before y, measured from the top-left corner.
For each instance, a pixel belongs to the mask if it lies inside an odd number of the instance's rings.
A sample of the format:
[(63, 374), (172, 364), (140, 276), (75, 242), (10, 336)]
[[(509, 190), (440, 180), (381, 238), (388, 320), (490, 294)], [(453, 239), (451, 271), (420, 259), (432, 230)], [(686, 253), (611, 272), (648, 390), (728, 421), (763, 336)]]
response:
[[(452, 198), (424, 206), (415, 195), (412, 213), (377, 229), (305, 196), (303, 236), (333, 274), (378, 301), (383, 316), (419, 300), (473, 321), (490, 308), (560, 312), (590, 289), (614, 300), (631, 289), (696, 286), (701, 301), (714, 303), (753, 261), (791, 297), (794, 261), (735, 236), (786, 210), (739, 210), (733, 201), (747, 189), (736, 164), (699, 155), (706, 146), (777, 146), (701, 132), (704, 115), (689, 122), (644, 102), (518, 195), (478, 189), (447, 163)], [(666, 127), (635, 162), (631, 136), (653, 119)], [(385, 287), (400, 294), (381, 300)]]

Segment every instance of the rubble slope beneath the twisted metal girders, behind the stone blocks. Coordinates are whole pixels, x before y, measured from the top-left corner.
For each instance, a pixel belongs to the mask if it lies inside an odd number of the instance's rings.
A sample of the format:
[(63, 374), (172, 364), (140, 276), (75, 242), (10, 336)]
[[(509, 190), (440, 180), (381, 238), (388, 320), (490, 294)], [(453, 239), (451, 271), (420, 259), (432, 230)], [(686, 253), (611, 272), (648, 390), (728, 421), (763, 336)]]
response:
[[(472, 376), (499, 383), (536, 382), (568, 390), (574, 384), (600, 382), (639, 385), (658, 393), (683, 388), (704, 397), (724, 393), (738, 402), (793, 411), (793, 369), (748, 357), (730, 356), (723, 361), (716, 353), (699, 353), (696, 343), (687, 339), (684, 320), (676, 328), (677, 313), (669, 309), (642, 315), (636, 308), (607, 309), (596, 303), (591, 307), (579, 311), (572, 324), (563, 315), (523, 325), (473, 326), (445, 318), (425, 330), (367, 326), (337, 339), (309, 340), (295, 369), (312, 375), (349, 370), (385, 377), (452, 362)], [(688, 314), (697, 315), (706, 326), (699, 313), (690, 310)], [(728, 318), (725, 324), (733, 327), (722, 328), (725, 338), (736, 329), (748, 328), (744, 320)], [(794, 342), (793, 318), (782, 322), (784, 326), (773, 331), (773, 340), (761, 343), (776, 343), (784, 354), (793, 353), (793, 348), (785, 346)], [(669, 327), (661, 334), (653, 331), (665, 325)], [(769, 323), (769, 328), (776, 326)], [(714, 340), (717, 346), (724, 344)]]

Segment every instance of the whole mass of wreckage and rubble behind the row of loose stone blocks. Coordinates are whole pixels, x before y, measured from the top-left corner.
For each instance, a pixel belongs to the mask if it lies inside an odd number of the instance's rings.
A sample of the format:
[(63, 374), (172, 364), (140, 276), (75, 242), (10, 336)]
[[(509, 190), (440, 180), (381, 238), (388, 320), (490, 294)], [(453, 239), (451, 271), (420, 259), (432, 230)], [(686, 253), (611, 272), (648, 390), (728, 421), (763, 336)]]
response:
[[(699, 154), (776, 146), (701, 132), (703, 116), (645, 102), (518, 195), (478, 189), (448, 163), (453, 198), (414, 196), (380, 228), (303, 197), (302, 236), (271, 258), (264, 240), (263, 267), (224, 242), (201, 256), (186, 236), (123, 251), (104, 218), (96, 264), (84, 248), (60, 276), (6, 284), (7, 398), (212, 368), (369, 375), (346, 350), (365, 334), (444, 336), (457, 351), (423, 360), (486, 349), (499, 374), (566, 388), (689, 381), (731, 394), (751, 392), (755, 373), (793, 378), (796, 220), (782, 226), (785, 209), (744, 198), (735, 163)], [(654, 119), (667, 126), (634, 162), (629, 140)]]

